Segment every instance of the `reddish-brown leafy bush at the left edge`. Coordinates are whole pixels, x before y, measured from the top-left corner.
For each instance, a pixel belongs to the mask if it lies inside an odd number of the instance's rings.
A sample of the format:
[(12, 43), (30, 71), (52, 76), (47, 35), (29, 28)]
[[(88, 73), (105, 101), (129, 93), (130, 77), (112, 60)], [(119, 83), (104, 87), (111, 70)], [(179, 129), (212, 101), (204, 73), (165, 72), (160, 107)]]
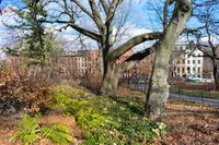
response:
[(0, 70), (0, 113), (22, 109), (34, 113), (46, 107), (50, 99), (50, 83), (46, 78), (34, 80), (27, 74), (28, 68), (5, 67)]

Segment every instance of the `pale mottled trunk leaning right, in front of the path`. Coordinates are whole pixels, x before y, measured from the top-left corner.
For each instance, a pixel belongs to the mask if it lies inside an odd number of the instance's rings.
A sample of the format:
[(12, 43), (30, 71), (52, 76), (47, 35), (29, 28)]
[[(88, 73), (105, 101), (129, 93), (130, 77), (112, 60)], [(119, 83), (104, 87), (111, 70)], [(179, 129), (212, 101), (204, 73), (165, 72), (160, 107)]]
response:
[(192, 0), (178, 0), (171, 22), (169, 23), (163, 38), (155, 53), (155, 62), (150, 80), (149, 90), (146, 98), (146, 114), (151, 120), (161, 121), (169, 97), (169, 60), (172, 48), (174, 47), (180, 34), (184, 29), (192, 12)]

